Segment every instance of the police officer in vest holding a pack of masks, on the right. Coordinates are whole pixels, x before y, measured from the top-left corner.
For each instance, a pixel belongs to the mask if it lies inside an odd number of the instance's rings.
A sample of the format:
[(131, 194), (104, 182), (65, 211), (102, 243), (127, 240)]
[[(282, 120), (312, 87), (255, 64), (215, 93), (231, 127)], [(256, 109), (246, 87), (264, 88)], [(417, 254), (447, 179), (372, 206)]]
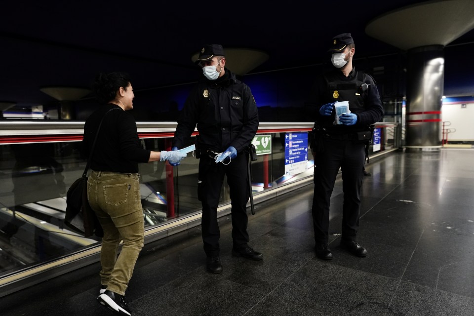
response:
[[(351, 34), (340, 34), (331, 44), (329, 52), (335, 69), (316, 80), (308, 100), (317, 110), (312, 146), (315, 154), (313, 222), (316, 255), (325, 260), (332, 259), (328, 248), (329, 200), (339, 168), (344, 191), (341, 246), (356, 256), (367, 255), (367, 250), (356, 241), (360, 187), (366, 145), (371, 139), (369, 125), (380, 121), (384, 114), (374, 79), (353, 67), (355, 45)], [(349, 101), (350, 113), (339, 116), (341, 124), (337, 124), (334, 104), (341, 101)]]

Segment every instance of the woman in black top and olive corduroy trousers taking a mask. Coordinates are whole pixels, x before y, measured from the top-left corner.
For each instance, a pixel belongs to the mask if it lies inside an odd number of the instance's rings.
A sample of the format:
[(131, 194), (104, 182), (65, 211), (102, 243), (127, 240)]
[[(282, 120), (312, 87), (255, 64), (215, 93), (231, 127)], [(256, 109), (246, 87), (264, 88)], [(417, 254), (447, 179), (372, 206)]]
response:
[[(87, 118), (82, 142), (89, 157), (104, 118), (87, 181), (89, 204), (104, 230), (100, 254), (102, 286), (97, 301), (118, 315), (131, 315), (124, 295), (144, 239), (138, 163), (178, 163), (186, 154), (141, 148), (135, 119), (126, 112), (133, 109), (134, 98), (127, 74), (99, 74), (93, 91), (104, 105)], [(123, 245), (117, 257), (120, 240)]]

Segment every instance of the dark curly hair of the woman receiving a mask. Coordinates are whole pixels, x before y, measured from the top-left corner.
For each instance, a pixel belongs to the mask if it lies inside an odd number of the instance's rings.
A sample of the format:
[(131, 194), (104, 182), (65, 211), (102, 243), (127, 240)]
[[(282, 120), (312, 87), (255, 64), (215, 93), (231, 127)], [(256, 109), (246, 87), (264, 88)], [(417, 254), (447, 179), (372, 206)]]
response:
[(92, 91), (100, 104), (106, 104), (115, 99), (120, 87), (126, 89), (129, 84), (130, 76), (127, 73), (99, 73), (92, 84)]

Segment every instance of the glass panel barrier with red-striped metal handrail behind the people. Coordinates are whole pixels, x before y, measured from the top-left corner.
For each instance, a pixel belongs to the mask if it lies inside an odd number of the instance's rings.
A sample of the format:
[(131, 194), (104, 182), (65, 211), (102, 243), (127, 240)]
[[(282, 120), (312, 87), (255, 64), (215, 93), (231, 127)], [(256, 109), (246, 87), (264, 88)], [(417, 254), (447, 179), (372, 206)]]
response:
[[(137, 122), (137, 126), (144, 148), (171, 148), (176, 122)], [(376, 151), (371, 146), (370, 156), (399, 146), (397, 123), (378, 123), (377, 127), (380, 146)], [(64, 265), (65, 258), (74, 255), (77, 260), (86, 249), (87, 255), (99, 253), (99, 237), (81, 237), (63, 222), (66, 192), (86, 165), (81, 155), (82, 128), (83, 122), (0, 122), (0, 288), (20, 278), (16, 277), (20, 272), (24, 278), (29, 269), (46, 264), (51, 269), (56, 262)], [(292, 182), (312, 183), (313, 156), (304, 143), (311, 128), (311, 123), (260, 123), (260, 137), (254, 143), (261, 150), (257, 161), (251, 162), (255, 197)], [(295, 135), (303, 139), (298, 146)], [(194, 226), (200, 224), (199, 159), (193, 156), (189, 153), (177, 167), (159, 161), (140, 164), (146, 242), (185, 230), (191, 221)], [(292, 162), (299, 163), (299, 171), (289, 168)], [(229, 205), (224, 180), (219, 216), (229, 212)], [(176, 230), (177, 226), (181, 228)]]

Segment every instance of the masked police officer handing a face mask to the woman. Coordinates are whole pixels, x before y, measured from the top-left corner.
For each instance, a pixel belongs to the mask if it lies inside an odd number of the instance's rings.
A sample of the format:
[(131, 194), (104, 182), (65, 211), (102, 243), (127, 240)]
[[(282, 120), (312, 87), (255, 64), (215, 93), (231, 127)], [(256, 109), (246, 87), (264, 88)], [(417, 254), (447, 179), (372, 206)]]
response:
[[(217, 206), (225, 175), (232, 202), (232, 253), (252, 260), (263, 258), (247, 243), (249, 190), (246, 150), (257, 133), (258, 112), (250, 88), (225, 68), (226, 58), (221, 45), (204, 45), (197, 63), (202, 67), (203, 76), (180, 113), (172, 149), (183, 148), (197, 125), (200, 155), (197, 195), (202, 202), (206, 267), (211, 273), (221, 273)], [(220, 155), (227, 158), (216, 163)]]

